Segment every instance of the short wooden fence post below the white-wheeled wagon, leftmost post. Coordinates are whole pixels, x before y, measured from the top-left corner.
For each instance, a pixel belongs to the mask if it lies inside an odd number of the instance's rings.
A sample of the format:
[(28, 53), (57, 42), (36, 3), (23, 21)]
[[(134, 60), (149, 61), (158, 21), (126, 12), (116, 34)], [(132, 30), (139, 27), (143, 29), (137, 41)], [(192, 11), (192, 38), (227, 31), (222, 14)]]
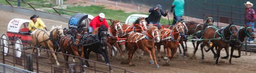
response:
[(26, 55), (26, 69), (33, 72), (33, 58), (32, 55)]

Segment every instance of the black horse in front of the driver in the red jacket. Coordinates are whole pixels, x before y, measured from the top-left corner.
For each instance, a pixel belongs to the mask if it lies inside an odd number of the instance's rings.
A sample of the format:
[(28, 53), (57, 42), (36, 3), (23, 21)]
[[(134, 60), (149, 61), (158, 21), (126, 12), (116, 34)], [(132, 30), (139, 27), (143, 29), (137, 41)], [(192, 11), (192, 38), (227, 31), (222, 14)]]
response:
[[(106, 64), (110, 64), (108, 60), (108, 50), (106, 45), (109, 36), (107, 31), (108, 28), (102, 25), (99, 28), (94, 29), (92, 34), (84, 35), (82, 37), (84, 42), (83, 45), (85, 59), (89, 59), (90, 52), (93, 51), (95, 53), (101, 54), (104, 57)], [(90, 67), (87, 60), (86, 64), (88, 67)], [(109, 67), (109, 69), (112, 71), (111, 67)]]

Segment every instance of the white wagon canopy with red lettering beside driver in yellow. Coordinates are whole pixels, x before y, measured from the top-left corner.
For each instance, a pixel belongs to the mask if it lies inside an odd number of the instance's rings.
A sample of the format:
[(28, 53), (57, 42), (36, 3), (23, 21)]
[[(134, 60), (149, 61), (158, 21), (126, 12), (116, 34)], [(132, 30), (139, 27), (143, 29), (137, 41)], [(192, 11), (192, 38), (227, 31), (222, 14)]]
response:
[(7, 32), (19, 33), (20, 27), (22, 26), (22, 24), (24, 24), (26, 22), (29, 23), (30, 20), (25, 20), (25, 19), (20, 19), (20, 18), (12, 19), (7, 26)]

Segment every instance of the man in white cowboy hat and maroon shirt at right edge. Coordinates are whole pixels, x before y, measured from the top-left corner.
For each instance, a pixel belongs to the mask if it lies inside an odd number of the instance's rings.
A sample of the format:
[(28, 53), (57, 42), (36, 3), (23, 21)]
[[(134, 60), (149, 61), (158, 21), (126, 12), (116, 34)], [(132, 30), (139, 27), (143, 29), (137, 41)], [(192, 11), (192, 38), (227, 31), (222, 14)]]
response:
[[(256, 19), (256, 15), (254, 10), (252, 9), (253, 4), (251, 2), (244, 3), (246, 6), (244, 20), (246, 25), (251, 25), (254, 30), (254, 20)], [(249, 43), (253, 43), (253, 39), (248, 39)]]

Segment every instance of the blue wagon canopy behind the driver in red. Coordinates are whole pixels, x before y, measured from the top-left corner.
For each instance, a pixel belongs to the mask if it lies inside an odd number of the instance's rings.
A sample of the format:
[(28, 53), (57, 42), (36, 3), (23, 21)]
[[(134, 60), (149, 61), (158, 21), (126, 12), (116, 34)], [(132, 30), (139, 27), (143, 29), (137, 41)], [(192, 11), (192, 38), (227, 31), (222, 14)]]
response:
[(86, 18), (88, 18), (88, 14), (81, 14), (81, 13), (74, 14), (68, 22), (68, 28), (70, 29), (70, 28), (82, 27), (81, 23)]

